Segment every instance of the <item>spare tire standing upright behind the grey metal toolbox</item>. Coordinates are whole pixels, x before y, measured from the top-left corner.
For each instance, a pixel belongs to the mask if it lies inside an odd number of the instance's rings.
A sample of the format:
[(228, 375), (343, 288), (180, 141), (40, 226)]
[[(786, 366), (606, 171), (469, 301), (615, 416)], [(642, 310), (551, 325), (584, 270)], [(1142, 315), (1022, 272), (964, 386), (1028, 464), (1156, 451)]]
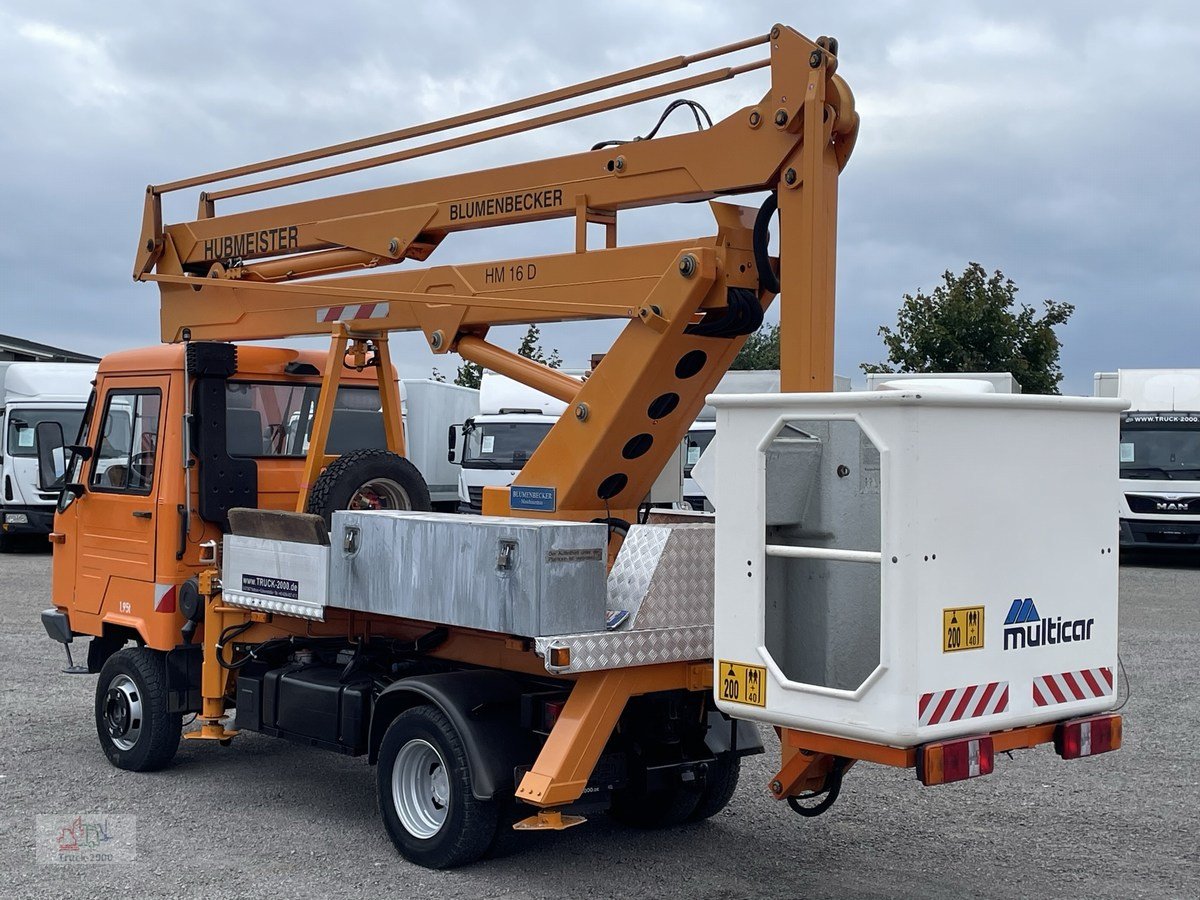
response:
[(338, 456), (312, 486), (305, 511), (331, 527), (335, 510), (373, 509), (433, 509), (421, 473), (390, 450), (354, 450)]

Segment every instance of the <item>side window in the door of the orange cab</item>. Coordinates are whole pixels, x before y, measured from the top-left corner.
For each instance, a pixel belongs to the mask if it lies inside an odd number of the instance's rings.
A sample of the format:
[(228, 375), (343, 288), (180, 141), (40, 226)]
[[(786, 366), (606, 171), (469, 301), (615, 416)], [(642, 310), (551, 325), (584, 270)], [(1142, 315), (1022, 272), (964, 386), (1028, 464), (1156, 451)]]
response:
[(156, 388), (109, 391), (89, 482), (94, 490), (150, 493), (161, 406)]

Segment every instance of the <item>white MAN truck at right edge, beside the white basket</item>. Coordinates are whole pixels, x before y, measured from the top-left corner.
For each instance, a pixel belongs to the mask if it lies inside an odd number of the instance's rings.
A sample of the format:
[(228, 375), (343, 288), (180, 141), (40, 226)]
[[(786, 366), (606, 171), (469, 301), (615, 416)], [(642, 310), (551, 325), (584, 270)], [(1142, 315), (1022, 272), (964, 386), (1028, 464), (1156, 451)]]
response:
[(1121, 397), (1121, 546), (1200, 550), (1200, 368), (1097, 372)]

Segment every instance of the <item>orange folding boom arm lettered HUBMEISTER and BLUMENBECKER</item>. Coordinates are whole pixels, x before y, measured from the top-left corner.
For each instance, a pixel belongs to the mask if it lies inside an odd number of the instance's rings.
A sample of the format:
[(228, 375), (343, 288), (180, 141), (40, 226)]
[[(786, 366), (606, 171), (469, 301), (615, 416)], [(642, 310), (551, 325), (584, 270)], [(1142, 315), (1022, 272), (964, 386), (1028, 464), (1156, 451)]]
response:
[[(161, 223), (161, 197), (169, 191), (475, 125), (764, 43), (769, 58), (737, 67), (370, 160), (202, 193), (196, 221)], [(784, 296), (784, 390), (832, 388), (836, 184), (858, 131), (853, 97), (835, 74), (836, 49), (836, 41), (814, 43), (776, 25), (761, 37), (479, 113), (151, 186), (134, 277), (158, 282), (166, 341), (181, 340), (185, 329), (193, 338), (208, 340), (329, 334), (338, 322), (361, 335), (420, 330), (434, 353), (457, 352), (548, 390), (568, 400), (571, 412), (517, 484), (552, 488), (554, 510), (522, 514), (631, 521), (637, 500), (776, 293)], [(216, 203), (226, 198), (479, 143), (767, 66), (768, 94), (707, 131), (216, 212)], [(756, 228), (752, 210), (713, 203), (713, 236), (617, 246), (623, 209), (761, 191), (778, 197), (778, 276), (766, 254), (769, 209)], [(565, 217), (576, 223), (574, 253), (384, 270), (406, 259), (427, 259), (455, 232)], [(587, 248), (589, 222), (606, 226), (604, 248)], [(344, 275), (362, 269), (378, 271)], [(594, 318), (630, 322), (582, 386), (486, 341), (491, 325)], [(506, 491), (491, 492), (485, 511), (506, 512)]]

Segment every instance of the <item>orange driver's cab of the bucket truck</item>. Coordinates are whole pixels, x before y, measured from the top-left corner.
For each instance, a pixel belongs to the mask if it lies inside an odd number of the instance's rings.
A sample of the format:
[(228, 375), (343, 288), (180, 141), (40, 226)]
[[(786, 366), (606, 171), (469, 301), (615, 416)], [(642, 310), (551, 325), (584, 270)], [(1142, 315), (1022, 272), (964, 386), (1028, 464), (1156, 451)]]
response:
[[(178, 588), (202, 569), (200, 547), (220, 540), (230, 506), (295, 508), (324, 354), (214, 346), (228, 348), (227, 371), (203, 360), (188, 371), (179, 344), (110, 354), (77, 414), (50, 534), (53, 601), (68, 632), (103, 638), (89, 650), (92, 671), (127, 640), (179, 643)], [(383, 446), (374, 374), (349, 371), (342, 385), (330, 452)]]

